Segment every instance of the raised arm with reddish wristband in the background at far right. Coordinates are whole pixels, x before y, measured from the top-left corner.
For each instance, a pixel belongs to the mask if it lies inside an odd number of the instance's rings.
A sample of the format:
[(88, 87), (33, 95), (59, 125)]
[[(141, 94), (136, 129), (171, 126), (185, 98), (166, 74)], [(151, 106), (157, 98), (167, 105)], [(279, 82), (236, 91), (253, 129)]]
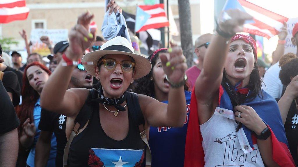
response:
[(278, 34), (278, 44), (275, 51), (272, 53), (272, 65), (277, 63), (285, 52), (285, 38), (288, 35), (287, 23), (283, 23), (280, 33)]

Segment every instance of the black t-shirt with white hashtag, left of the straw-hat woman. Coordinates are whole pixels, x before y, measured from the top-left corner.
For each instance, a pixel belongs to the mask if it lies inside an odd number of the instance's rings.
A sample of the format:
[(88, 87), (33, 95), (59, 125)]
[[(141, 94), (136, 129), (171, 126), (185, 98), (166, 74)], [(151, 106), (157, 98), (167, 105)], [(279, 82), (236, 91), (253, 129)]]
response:
[(63, 167), (63, 152), (67, 143), (66, 135), (66, 116), (57, 114), (45, 109), (41, 109), (41, 119), (38, 129), (54, 132), (57, 140), (56, 167)]

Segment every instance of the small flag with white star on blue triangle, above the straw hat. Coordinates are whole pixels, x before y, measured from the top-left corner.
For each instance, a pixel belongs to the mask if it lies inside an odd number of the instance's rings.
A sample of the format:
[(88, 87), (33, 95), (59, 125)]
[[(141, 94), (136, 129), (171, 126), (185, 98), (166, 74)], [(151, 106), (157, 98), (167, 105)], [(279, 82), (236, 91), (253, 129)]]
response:
[(136, 10), (135, 31), (157, 29), (169, 26), (167, 15), (164, 11), (164, 4), (140, 5)]

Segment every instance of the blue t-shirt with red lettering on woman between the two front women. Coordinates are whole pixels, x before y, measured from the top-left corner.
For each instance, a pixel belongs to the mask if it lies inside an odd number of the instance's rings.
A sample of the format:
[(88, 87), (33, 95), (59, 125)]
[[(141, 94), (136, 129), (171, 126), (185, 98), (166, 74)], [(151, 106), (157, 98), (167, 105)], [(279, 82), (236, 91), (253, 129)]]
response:
[[(191, 92), (185, 91), (187, 116), (183, 127), (150, 127), (149, 146), (152, 166), (184, 165), (184, 149), (190, 112)], [(167, 103), (168, 101), (162, 101)]]

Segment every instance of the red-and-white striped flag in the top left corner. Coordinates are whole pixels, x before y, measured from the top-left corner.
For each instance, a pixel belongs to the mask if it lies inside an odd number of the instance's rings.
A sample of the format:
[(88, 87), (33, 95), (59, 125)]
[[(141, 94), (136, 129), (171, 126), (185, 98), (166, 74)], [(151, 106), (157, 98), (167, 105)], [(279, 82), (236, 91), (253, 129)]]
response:
[(0, 23), (26, 20), (28, 14), (25, 0), (0, 0)]

